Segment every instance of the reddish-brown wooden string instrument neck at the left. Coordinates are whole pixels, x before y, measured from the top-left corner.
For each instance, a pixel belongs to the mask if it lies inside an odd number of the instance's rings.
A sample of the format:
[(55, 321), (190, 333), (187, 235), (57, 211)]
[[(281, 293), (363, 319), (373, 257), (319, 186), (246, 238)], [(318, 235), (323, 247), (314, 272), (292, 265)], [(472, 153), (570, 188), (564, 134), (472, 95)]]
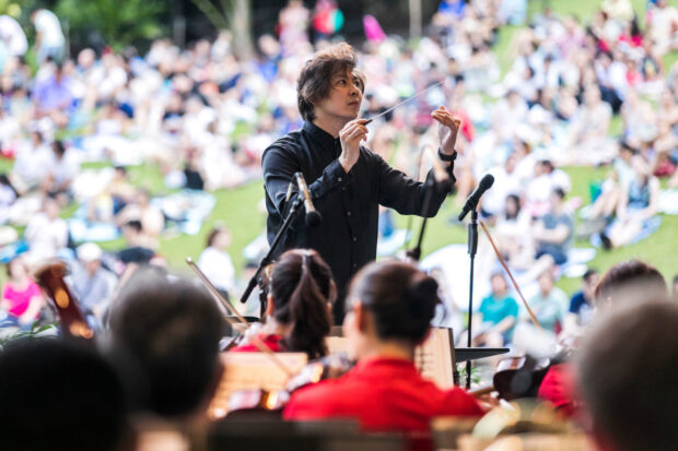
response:
[(87, 324), (75, 296), (63, 280), (67, 274), (66, 263), (50, 261), (38, 268), (34, 276), (59, 314), (61, 334), (68, 339), (92, 340), (94, 331)]

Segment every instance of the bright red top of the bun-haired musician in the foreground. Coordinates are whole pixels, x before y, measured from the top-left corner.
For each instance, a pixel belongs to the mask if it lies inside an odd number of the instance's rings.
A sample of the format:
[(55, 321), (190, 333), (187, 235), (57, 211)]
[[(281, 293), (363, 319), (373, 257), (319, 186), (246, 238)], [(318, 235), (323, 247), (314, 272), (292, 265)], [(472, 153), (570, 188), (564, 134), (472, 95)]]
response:
[(339, 379), (303, 388), (284, 410), (285, 419), (355, 418), (367, 431), (428, 431), (432, 417), (480, 416), (464, 390), (441, 390), (409, 360), (360, 361)]

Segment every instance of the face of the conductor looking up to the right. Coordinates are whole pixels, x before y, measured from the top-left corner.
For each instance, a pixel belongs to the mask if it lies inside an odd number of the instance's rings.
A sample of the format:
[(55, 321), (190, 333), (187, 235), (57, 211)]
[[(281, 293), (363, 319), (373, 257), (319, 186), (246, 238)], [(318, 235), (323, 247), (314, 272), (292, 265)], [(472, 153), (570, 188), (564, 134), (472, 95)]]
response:
[(358, 117), (363, 100), (363, 82), (355, 72), (347, 70), (332, 75), (329, 93), (315, 106), (316, 117), (341, 118), (347, 122)]

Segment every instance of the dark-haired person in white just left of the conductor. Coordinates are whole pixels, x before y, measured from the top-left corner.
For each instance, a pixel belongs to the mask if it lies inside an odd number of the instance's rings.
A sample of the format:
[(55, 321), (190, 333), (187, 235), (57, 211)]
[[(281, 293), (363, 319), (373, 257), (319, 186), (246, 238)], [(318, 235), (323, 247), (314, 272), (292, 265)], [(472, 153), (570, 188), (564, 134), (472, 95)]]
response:
[(231, 246), (231, 233), (217, 226), (207, 238), (207, 247), (198, 258), (198, 268), (206, 277), (229, 299), (235, 289), (235, 268), (226, 249)]

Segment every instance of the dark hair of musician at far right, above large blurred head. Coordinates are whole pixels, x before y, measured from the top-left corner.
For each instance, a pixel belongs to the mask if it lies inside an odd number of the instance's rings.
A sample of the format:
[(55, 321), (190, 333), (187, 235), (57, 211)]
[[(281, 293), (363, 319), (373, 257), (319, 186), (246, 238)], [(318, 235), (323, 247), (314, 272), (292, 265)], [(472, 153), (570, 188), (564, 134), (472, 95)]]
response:
[(666, 281), (656, 268), (640, 260), (627, 260), (610, 268), (594, 290), (594, 301), (663, 298), (668, 294)]

